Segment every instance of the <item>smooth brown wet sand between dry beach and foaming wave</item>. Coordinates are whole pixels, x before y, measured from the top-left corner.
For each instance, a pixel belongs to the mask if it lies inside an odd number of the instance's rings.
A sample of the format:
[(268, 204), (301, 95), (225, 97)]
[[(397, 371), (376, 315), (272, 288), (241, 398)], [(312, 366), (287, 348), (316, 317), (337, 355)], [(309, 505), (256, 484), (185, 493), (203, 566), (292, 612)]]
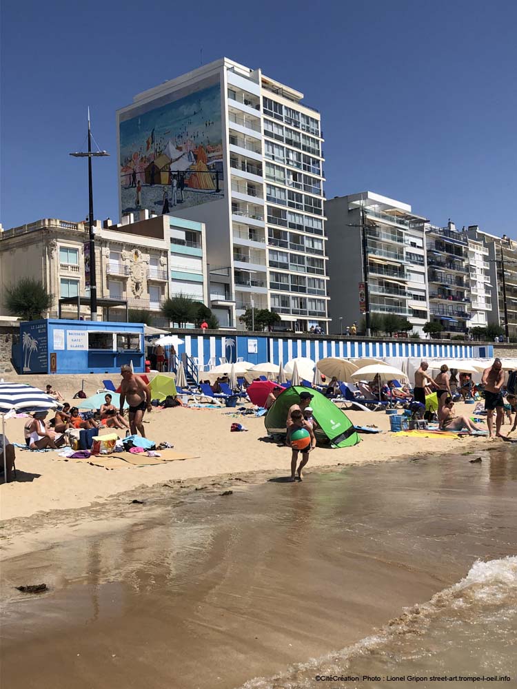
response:
[(232, 490), (142, 491), (131, 524), (7, 559), (3, 685), (287, 686), (274, 675), (516, 553), (514, 446)]

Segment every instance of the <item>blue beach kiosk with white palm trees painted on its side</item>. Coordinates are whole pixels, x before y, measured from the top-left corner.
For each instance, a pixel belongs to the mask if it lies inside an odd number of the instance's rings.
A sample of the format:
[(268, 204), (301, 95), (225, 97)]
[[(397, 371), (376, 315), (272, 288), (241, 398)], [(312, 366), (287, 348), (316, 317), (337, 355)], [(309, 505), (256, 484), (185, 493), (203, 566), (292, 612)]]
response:
[[(20, 373), (143, 373), (143, 323), (31, 320), (20, 324)], [(52, 363), (55, 358), (55, 370)]]

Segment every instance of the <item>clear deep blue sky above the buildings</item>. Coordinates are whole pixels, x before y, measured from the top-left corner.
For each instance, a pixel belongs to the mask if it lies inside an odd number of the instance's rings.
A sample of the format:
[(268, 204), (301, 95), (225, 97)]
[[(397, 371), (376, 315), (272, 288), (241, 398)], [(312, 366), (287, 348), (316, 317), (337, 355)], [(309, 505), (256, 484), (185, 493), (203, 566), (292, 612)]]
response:
[(3, 227), (81, 220), (86, 107), (110, 158), (97, 218), (117, 219), (115, 110), (225, 55), (323, 116), (327, 198), (370, 189), (433, 223), (517, 238), (517, 3), (28, 0), (1, 15)]

